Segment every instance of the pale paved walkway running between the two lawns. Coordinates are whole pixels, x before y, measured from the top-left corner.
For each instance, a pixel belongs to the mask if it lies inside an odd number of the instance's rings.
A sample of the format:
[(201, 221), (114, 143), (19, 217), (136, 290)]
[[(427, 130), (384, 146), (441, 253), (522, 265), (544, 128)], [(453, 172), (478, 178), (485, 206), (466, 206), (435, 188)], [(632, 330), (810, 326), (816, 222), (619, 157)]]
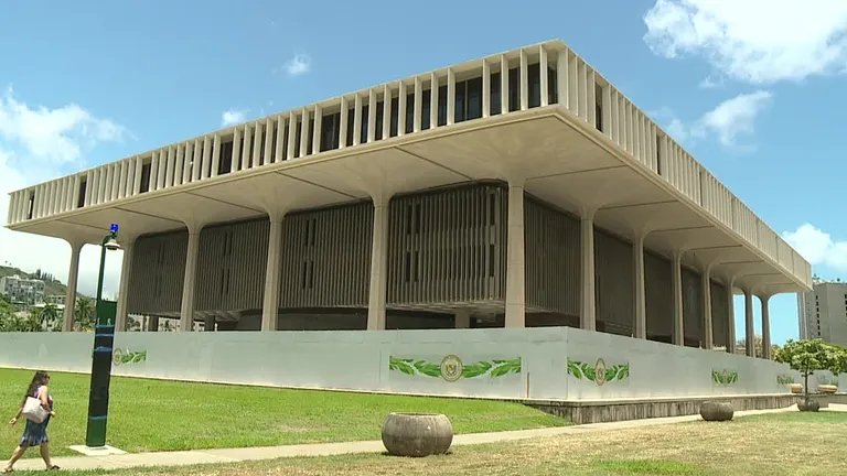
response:
[[(830, 404), (829, 411), (847, 411), (847, 405)], [(738, 411), (737, 416), (762, 413), (797, 411), (796, 405), (778, 410)], [(540, 430), (521, 430), (496, 433), (461, 434), (453, 437), (453, 445), (472, 445), (503, 441), (527, 440), (533, 437), (581, 434), (591, 431), (618, 430), (628, 428), (654, 426), (699, 420), (699, 415), (672, 416), (663, 419), (630, 420), (611, 423), (592, 423), (575, 426), (549, 428)], [(120, 469), (140, 466), (182, 466), (197, 464), (239, 463), (260, 459), (277, 459), (294, 456), (330, 456), (353, 453), (382, 453), (382, 441), (347, 443), (301, 444), (271, 447), (247, 447), (228, 450), (195, 450), (185, 452), (136, 453), (115, 456), (72, 456), (54, 458), (54, 464), (63, 469)], [(15, 469), (43, 469), (41, 459), (24, 459)]]

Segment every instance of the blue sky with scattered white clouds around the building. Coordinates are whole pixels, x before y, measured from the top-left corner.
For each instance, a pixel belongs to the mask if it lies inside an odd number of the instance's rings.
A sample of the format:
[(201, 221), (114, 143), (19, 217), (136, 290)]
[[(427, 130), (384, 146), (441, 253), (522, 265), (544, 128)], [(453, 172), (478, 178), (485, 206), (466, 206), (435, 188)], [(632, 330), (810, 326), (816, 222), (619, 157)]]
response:
[[(333, 3), (6, 4), (0, 208), (6, 192), (215, 130), (225, 118), (558, 37), (785, 234), (817, 274), (847, 271), (847, 221), (825, 205), (843, 198), (847, 176), (847, 2)], [(87, 292), (94, 253), (83, 257)], [(65, 277), (68, 259), (62, 241), (0, 232), (0, 262)], [(739, 337), (742, 310), (738, 299)], [(775, 343), (796, 336), (793, 295), (772, 300), (771, 320)]]

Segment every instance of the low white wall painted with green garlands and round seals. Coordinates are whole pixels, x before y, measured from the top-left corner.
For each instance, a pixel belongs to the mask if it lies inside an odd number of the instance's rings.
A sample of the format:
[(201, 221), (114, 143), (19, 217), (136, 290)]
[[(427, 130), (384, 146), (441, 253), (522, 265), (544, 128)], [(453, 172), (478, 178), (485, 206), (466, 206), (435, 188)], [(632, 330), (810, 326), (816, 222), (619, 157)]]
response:
[[(0, 334), (0, 367), (89, 372), (93, 339)], [(115, 375), (280, 387), (576, 400), (780, 393), (801, 381), (783, 364), (570, 327), (121, 333), (115, 344)]]

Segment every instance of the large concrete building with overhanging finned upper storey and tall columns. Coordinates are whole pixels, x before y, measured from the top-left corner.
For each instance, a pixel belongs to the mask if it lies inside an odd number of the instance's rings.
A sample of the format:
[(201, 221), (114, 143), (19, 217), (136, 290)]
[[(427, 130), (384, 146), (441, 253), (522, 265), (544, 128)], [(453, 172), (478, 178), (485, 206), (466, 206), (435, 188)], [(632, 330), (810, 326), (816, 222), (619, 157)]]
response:
[(79, 248), (120, 224), (121, 326), (128, 313), (183, 331), (578, 326), (732, 351), (741, 292), (748, 335), (760, 298), (770, 349), (768, 300), (812, 284), (795, 250), (559, 41), (37, 184), (12, 193), (8, 221), (71, 244), (69, 293)]

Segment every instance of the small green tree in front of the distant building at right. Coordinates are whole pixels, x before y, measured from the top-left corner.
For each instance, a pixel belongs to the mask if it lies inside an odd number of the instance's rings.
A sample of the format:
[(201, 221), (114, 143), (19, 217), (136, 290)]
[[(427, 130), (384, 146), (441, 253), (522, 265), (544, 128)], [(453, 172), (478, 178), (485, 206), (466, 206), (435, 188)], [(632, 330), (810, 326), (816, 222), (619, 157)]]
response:
[(776, 350), (774, 360), (787, 364), (792, 369), (801, 372), (804, 379), (803, 393), (806, 405), (808, 405), (808, 376), (816, 370), (829, 370), (835, 375), (847, 371), (847, 349), (823, 339), (789, 339), (781, 349)]

